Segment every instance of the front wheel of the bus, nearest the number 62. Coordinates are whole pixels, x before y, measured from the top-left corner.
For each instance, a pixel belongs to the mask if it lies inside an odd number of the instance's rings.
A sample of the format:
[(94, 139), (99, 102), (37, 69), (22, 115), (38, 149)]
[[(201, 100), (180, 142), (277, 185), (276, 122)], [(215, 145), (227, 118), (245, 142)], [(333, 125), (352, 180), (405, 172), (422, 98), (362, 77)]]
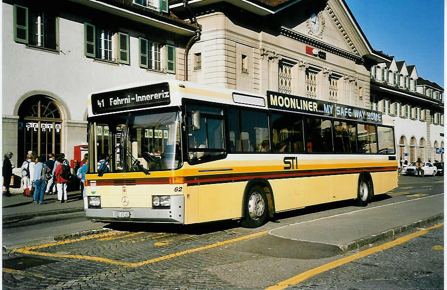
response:
[(245, 217), (242, 226), (248, 228), (260, 227), (265, 223), (268, 212), (267, 196), (260, 185), (250, 188), (245, 201)]

